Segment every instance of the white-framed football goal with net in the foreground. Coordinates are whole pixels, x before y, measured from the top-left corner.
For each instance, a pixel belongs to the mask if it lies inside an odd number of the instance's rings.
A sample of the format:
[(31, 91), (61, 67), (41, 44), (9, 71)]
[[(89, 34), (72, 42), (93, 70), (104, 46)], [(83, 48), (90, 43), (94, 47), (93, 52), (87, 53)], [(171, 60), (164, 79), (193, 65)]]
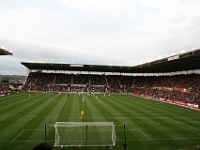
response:
[(54, 146), (115, 146), (113, 122), (56, 122)]

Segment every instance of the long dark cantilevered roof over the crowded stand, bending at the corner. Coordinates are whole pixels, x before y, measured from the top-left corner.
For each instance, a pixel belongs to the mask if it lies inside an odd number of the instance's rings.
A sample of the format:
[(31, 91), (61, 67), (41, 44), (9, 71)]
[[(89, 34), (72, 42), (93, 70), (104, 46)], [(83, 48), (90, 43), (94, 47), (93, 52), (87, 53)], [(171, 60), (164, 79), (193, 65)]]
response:
[(200, 69), (200, 49), (178, 54), (137, 66), (105, 66), (84, 64), (28, 63), (21, 62), (30, 70), (66, 70), (120, 73), (163, 73)]

